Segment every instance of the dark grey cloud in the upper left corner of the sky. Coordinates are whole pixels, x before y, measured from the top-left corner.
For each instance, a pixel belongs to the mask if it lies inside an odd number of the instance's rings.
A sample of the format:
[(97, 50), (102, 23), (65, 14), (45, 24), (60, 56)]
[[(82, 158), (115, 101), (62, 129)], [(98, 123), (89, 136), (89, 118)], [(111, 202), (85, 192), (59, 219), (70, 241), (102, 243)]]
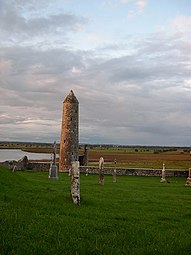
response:
[(70, 13), (57, 13), (50, 14), (49, 16), (41, 17), (28, 17), (23, 16), (14, 5), (2, 4), (0, 11), (1, 22), (0, 31), (5, 33), (4, 37), (1, 33), (2, 39), (6, 40), (6, 37), (14, 38), (17, 40), (23, 36), (25, 39), (29, 37), (64, 35), (67, 32), (76, 32), (87, 23), (84, 17), (79, 17)]

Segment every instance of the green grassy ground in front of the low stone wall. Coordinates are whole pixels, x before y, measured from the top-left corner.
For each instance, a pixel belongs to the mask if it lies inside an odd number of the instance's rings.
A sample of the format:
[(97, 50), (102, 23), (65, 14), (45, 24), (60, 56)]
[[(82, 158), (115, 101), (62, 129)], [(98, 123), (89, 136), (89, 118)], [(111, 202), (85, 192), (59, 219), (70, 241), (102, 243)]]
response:
[(0, 254), (190, 254), (185, 178), (81, 175), (81, 206), (60, 174), (0, 167)]

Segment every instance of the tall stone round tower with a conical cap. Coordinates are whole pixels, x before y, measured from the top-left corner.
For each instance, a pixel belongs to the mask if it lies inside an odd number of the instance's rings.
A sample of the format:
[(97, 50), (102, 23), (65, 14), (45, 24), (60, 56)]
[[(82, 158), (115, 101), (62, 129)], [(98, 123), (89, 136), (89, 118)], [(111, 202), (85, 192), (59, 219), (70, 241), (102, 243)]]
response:
[(60, 138), (59, 171), (71, 169), (72, 161), (78, 161), (79, 150), (79, 102), (71, 90), (63, 102), (62, 130)]

